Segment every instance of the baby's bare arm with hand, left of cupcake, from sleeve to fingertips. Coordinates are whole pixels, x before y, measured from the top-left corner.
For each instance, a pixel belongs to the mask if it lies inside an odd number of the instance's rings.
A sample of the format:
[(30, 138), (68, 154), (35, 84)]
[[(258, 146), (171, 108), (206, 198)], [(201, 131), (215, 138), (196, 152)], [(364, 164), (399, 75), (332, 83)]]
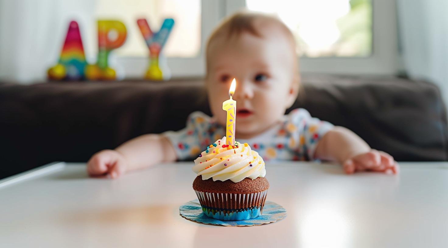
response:
[(115, 150), (102, 150), (94, 154), (87, 162), (87, 172), (91, 176), (108, 174), (116, 178), (126, 171), (175, 160), (175, 150), (166, 137), (145, 134), (125, 142)]

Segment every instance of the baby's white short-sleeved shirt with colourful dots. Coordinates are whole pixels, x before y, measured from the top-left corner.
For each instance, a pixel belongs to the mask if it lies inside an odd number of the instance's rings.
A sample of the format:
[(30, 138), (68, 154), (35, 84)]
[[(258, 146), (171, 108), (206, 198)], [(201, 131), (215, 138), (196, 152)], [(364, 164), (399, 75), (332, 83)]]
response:
[[(305, 109), (298, 108), (284, 116), (284, 122), (272, 137), (249, 145), (266, 161), (313, 160), (314, 150), (320, 138), (333, 127), (326, 121), (311, 117)], [(189, 115), (184, 129), (165, 132), (164, 135), (173, 144), (179, 160), (197, 158), (201, 152), (200, 147), (206, 147), (208, 153), (208, 149), (212, 146), (225, 146), (215, 143), (210, 145), (211, 142), (225, 136), (224, 127), (210, 116), (198, 111)]]

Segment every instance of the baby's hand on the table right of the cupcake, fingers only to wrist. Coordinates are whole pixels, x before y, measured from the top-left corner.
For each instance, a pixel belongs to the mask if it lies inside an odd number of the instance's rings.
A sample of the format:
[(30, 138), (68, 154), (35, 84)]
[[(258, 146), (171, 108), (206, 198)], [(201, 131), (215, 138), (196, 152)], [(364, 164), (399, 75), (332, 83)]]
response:
[(353, 174), (356, 171), (380, 171), (397, 174), (399, 171), (399, 166), (391, 155), (374, 149), (345, 160), (343, 167), (347, 174)]

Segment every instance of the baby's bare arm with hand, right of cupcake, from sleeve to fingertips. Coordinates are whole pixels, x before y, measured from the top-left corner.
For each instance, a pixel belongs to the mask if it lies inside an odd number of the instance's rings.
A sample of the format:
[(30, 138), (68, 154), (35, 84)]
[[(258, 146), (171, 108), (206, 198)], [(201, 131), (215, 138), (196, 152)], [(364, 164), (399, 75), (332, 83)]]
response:
[(396, 174), (399, 170), (391, 155), (371, 149), (361, 137), (343, 127), (334, 127), (322, 137), (314, 157), (340, 162), (347, 174), (355, 171), (390, 171)]

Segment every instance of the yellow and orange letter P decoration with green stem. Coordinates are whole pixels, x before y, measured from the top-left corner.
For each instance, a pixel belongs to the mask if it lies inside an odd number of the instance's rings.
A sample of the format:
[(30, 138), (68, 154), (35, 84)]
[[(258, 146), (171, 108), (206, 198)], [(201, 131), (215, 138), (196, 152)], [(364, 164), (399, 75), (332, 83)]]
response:
[[(116, 34), (113, 39), (111, 34)], [(98, 21), (98, 61), (86, 66), (90, 80), (114, 80), (115, 70), (108, 67), (109, 53), (121, 47), (126, 40), (126, 26), (121, 21)]]

